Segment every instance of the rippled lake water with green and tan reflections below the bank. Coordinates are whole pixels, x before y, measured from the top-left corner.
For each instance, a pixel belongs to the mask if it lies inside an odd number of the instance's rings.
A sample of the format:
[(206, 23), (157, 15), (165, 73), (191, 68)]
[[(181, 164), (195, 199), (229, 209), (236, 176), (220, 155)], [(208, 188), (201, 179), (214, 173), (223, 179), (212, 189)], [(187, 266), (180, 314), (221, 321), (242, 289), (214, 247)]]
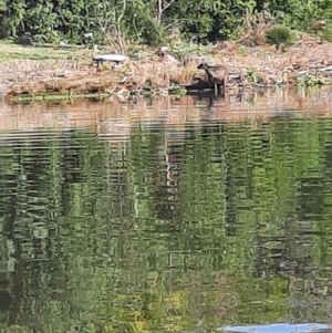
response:
[(0, 332), (330, 322), (329, 106), (139, 103), (0, 107)]

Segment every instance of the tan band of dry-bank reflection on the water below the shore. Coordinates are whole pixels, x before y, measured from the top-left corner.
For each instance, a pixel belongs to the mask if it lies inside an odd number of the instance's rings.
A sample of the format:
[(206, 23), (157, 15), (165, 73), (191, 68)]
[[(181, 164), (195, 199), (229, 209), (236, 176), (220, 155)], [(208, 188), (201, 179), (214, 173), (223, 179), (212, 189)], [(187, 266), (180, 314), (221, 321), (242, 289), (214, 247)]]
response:
[[(251, 104), (249, 100), (253, 100)], [(142, 126), (162, 126), (169, 134), (168, 139), (172, 139), (173, 135), (184, 133), (188, 127), (208, 124), (257, 128), (272, 125), (278, 118), (332, 119), (331, 89), (312, 96), (295, 95), (287, 91), (266, 95), (248, 93), (240, 102), (234, 100), (227, 103), (219, 98), (212, 107), (209, 107), (209, 97), (199, 100), (198, 96), (157, 96), (153, 101), (138, 98), (136, 102), (125, 103), (113, 96), (108, 103), (81, 100), (58, 103), (49, 101), (31, 105), (2, 105), (2, 141), (17, 136), (33, 136), (37, 131), (46, 134), (86, 129), (96, 133), (102, 141), (123, 144)]]

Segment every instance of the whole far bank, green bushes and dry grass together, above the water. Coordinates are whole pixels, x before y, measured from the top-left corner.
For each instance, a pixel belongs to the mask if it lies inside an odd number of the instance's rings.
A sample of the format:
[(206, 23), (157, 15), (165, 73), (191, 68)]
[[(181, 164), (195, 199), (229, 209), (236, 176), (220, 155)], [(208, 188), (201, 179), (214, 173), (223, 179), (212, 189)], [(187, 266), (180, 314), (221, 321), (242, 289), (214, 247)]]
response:
[[(298, 0), (0, 0), (0, 38), (33, 40), (35, 46), (21, 48), (14, 56), (1, 48), (0, 61), (24, 62), (0, 65), (6, 73), (0, 95), (103, 97), (169, 89), (178, 93), (195, 77), (206, 80), (197, 71), (200, 56), (225, 63), (235, 86), (330, 84), (331, 17), (332, 3), (319, 0), (305, 6)], [(319, 39), (309, 38), (314, 32)], [(96, 71), (86, 48), (92, 44), (131, 61)], [(180, 60), (180, 69), (158, 64), (157, 46), (166, 44)]]

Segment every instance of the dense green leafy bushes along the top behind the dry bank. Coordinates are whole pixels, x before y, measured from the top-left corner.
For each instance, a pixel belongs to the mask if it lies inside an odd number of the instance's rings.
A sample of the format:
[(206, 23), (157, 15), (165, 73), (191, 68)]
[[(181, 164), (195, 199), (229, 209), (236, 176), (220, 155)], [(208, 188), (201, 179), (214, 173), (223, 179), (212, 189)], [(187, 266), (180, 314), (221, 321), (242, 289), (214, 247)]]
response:
[(238, 39), (248, 18), (310, 31), (310, 22), (330, 20), (332, 2), (320, 0), (1, 0), (0, 32), (18, 38), (30, 32), (37, 41), (82, 43), (93, 33), (95, 43), (120, 50), (131, 43), (162, 44), (181, 37), (197, 42)]

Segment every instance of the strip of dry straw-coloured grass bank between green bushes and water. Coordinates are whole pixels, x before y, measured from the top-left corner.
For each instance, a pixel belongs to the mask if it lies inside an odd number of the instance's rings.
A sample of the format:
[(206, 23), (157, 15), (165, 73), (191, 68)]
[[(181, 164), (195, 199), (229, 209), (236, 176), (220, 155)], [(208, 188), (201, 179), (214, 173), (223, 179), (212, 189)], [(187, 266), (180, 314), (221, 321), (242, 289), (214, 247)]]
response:
[[(12, 50), (15, 46), (11, 45)], [(185, 64), (180, 66), (159, 63), (156, 53), (149, 50), (129, 56), (123, 64), (107, 62), (101, 67), (92, 65), (91, 50), (72, 53), (60, 50), (61, 55), (53, 50), (53, 54), (48, 52), (46, 60), (31, 60), (32, 48), (21, 48), (20, 55), (27, 52), (27, 59), (10, 60), (9, 56), (0, 62), (0, 96), (11, 103), (209, 93), (207, 76), (197, 69), (201, 58), (229, 69), (227, 94), (247, 89), (305, 89), (332, 84), (332, 43), (318, 43), (312, 35), (303, 35), (283, 53), (271, 45), (249, 48), (237, 42), (197, 46), (197, 50), (191, 46), (193, 51), (184, 56)], [(33, 51), (39, 53), (38, 48)], [(177, 55), (176, 51), (174, 48)]]

